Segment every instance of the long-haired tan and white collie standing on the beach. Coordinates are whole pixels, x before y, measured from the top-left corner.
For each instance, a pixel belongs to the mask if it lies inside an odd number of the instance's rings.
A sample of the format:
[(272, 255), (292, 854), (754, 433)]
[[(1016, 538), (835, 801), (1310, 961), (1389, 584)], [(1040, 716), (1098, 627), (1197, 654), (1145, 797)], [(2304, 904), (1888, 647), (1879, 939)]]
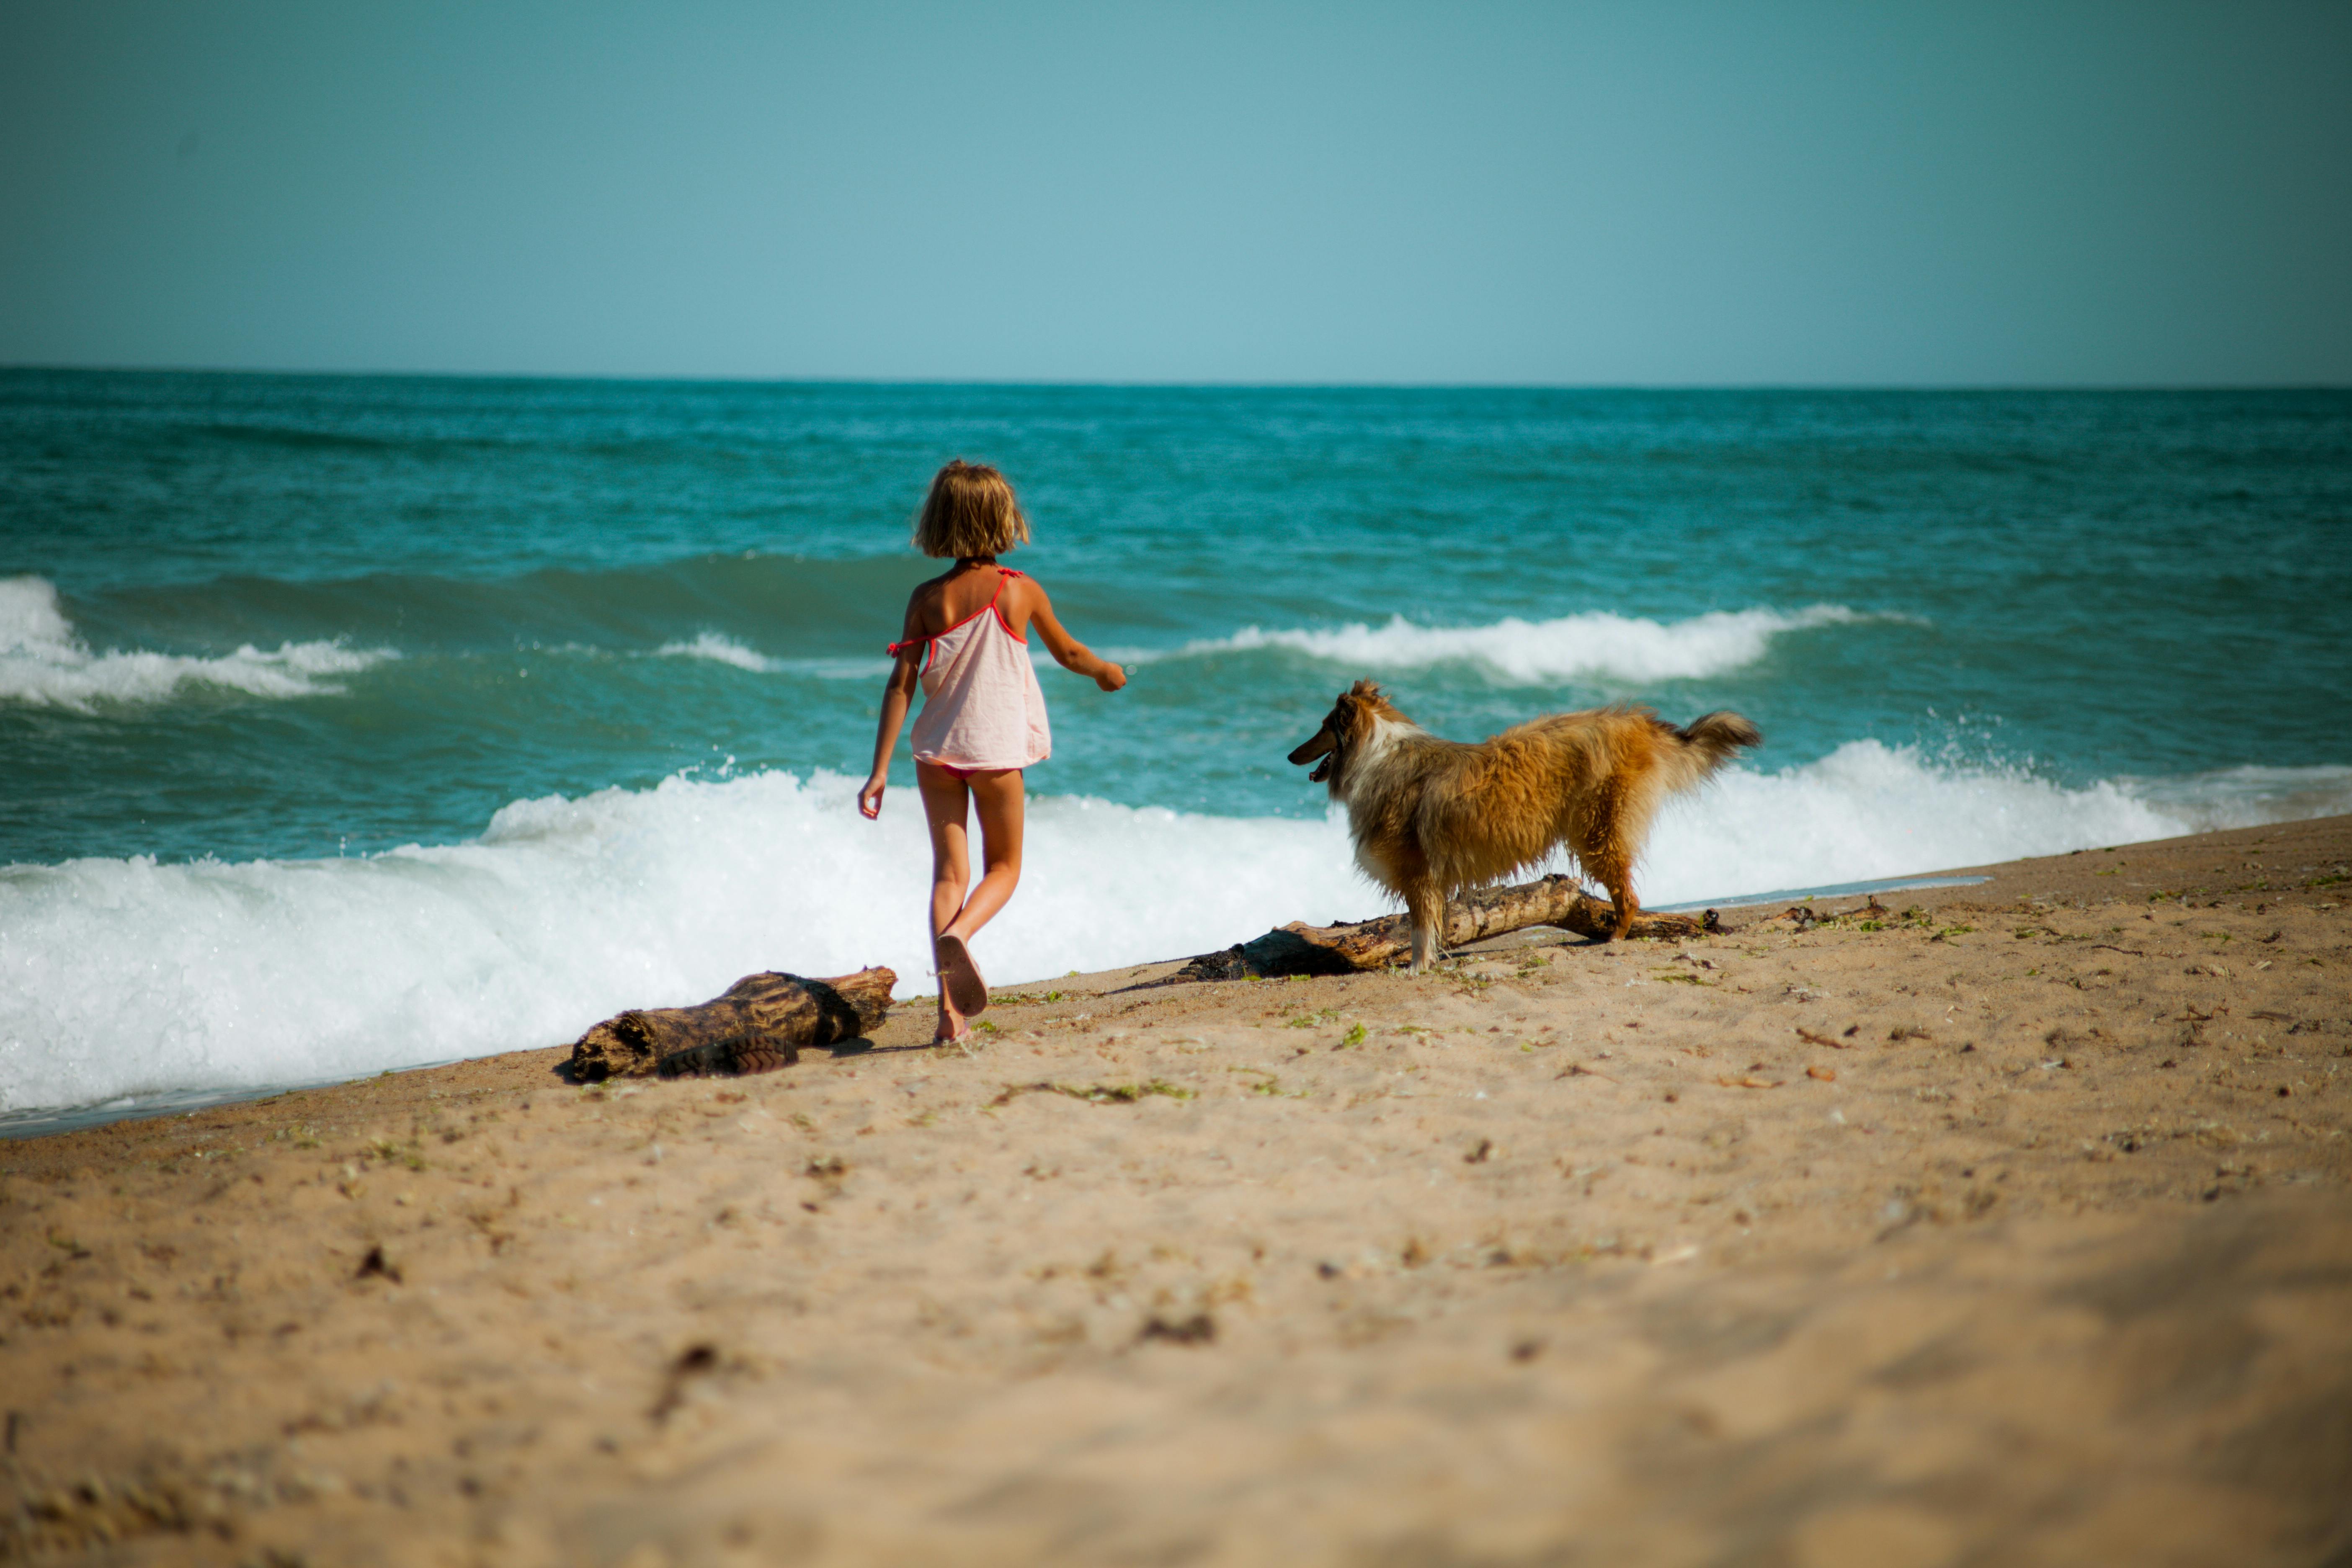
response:
[(1468, 745), (1439, 741), (1357, 682), (1291, 762), (1322, 766), (1348, 806), (1355, 863), (1404, 900), (1414, 973), (1437, 957), (1446, 898), (1536, 865), (1562, 844), (1632, 929), (1632, 863), (1668, 795), (1691, 790), (1764, 736), (1736, 712), (1675, 729), (1646, 708), (1555, 712)]

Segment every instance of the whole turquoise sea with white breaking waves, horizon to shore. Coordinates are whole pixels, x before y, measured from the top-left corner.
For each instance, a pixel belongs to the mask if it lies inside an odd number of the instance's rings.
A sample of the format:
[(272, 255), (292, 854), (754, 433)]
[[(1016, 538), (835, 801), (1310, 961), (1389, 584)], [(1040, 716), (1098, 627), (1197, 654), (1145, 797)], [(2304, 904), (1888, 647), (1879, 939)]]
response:
[(0, 371), (0, 1131), (931, 990), (873, 748), (929, 475), (1131, 668), (1040, 656), (995, 983), (1392, 907), (1284, 762), (1736, 708), (1639, 891), (2352, 811), (2352, 393)]

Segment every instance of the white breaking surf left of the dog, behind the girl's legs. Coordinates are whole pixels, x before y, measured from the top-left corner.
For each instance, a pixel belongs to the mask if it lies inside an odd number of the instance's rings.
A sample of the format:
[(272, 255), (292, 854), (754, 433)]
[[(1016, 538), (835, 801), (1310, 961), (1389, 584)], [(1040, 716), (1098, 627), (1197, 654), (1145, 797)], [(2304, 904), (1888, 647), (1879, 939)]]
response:
[[(1364, 905), (1336, 825), (1089, 799), (1033, 802), (1025, 872), (976, 943), (997, 980)], [(915, 792), (866, 823), (826, 773), (527, 799), (473, 844), (353, 860), (12, 867), (0, 1110), (548, 1046), (760, 969), (889, 964), (922, 992), (927, 889)]]

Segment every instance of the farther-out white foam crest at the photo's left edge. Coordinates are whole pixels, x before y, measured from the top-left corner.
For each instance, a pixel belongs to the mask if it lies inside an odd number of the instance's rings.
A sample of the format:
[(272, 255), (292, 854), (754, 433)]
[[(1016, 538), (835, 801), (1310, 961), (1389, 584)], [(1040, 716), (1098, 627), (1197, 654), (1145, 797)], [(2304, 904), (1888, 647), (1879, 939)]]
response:
[(92, 712), (101, 703), (165, 703), (181, 686), (216, 686), (247, 696), (318, 696), (341, 691), (334, 675), (355, 675), (397, 658), (393, 649), (346, 649), (341, 642), (240, 646), (200, 658), (108, 649), (94, 654), (56, 607), (47, 578), (0, 578), (0, 703)]

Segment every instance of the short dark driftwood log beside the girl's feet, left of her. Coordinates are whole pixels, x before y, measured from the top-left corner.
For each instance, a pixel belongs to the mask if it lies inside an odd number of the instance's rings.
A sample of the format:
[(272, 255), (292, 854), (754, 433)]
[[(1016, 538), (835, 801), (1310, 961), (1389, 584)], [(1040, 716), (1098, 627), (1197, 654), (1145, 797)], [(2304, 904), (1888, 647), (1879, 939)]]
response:
[(633, 1009), (607, 1018), (572, 1046), (572, 1074), (583, 1084), (628, 1077), (703, 1077), (774, 1072), (800, 1060), (802, 1046), (856, 1039), (889, 1016), (898, 976), (861, 969), (809, 980), (757, 973), (701, 1006)]

